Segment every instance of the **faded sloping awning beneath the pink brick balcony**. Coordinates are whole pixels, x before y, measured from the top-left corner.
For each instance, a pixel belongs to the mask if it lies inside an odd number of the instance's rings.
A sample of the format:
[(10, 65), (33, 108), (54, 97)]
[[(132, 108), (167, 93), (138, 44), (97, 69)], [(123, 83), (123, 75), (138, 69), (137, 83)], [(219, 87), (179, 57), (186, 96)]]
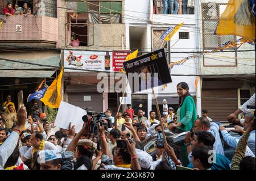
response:
[(0, 77), (48, 78), (59, 62), (59, 52), (0, 52)]

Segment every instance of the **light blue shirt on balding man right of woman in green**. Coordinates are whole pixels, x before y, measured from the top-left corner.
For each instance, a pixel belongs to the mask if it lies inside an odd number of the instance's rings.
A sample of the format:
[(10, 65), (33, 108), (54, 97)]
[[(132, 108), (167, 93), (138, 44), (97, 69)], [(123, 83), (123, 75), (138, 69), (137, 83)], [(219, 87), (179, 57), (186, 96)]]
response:
[(220, 138), (220, 133), (218, 132), (219, 128), (220, 127), (218, 126), (218, 124), (210, 123), (210, 129), (208, 132), (212, 133), (215, 138), (213, 150), (215, 150), (217, 154), (225, 155), (224, 148)]

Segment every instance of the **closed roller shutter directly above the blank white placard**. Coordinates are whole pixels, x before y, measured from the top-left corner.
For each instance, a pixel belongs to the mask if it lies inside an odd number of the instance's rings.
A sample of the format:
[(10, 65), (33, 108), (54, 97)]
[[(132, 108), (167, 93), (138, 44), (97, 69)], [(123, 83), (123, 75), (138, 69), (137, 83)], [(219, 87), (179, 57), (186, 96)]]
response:
[[(84, 101), (84, 96), (90, 96), (90, 101)], [(96, 112), (102, 112), (103, 110), (103, 100), (102, 100), (102, 94), (97, 93), (69, 93), (68, 94), (68, 103), (78, 106), (80, 108), (87, 108), (91, 107)]]

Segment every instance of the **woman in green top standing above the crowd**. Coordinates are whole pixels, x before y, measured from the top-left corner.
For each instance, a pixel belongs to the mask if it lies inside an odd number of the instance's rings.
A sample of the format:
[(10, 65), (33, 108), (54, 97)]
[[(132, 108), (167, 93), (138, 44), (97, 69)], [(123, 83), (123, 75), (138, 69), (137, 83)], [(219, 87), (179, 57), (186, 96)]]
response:
[(170, 124), (170, 129), (177, 127), (183, 131), (190, 131), (197, 119), (197, 113), (195, 101), (189, 94), (188, 84), (185, 82), (178, 83), (177, 94), (180, 98), (180, 106), (177, 110), (177, 121)]

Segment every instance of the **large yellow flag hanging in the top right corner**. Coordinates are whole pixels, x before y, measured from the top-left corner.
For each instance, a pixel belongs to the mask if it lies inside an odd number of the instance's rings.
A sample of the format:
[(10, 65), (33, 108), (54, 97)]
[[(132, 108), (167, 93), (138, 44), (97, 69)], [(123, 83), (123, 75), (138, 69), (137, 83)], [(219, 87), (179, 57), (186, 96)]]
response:
[(229, 0), (221, 14), (217, 35), (237, 35), (255, 39), (255, 17), (248, 0)]

